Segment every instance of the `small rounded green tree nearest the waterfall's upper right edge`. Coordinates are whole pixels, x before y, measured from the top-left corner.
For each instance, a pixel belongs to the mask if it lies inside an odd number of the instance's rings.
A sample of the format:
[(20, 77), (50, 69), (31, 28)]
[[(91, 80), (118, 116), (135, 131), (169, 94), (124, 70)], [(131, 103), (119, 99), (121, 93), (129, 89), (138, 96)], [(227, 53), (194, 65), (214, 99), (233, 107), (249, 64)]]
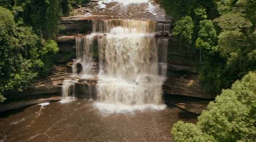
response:
[(192, 43), (193, 28), (194, 24), (192, 18), (186, 16), (175, 23), (175, 28), (173, 29), (172, 34), (179, 36), (183, 41)]

